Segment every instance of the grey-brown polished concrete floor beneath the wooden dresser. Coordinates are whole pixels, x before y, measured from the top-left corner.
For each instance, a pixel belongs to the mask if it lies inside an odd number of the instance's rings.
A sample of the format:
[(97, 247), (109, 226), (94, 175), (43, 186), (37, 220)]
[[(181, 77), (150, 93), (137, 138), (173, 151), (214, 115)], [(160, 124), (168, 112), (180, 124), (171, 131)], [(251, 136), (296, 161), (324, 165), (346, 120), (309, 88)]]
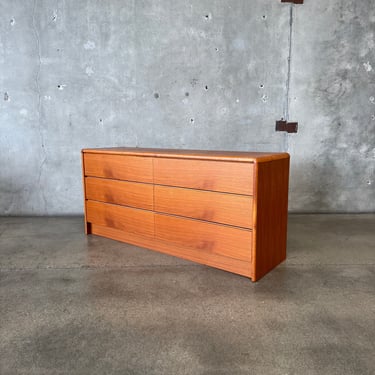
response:
[(375, 215), (292, 215), (258, 283), (0, 218), (0, 374), (374, 374)]

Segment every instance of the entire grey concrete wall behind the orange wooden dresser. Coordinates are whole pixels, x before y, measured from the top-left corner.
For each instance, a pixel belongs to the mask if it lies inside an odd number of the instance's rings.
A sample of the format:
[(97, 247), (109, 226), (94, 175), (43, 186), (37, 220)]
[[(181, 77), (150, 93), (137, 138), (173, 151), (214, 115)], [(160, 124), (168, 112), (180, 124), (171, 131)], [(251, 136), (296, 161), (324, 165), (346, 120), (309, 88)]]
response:
[(372, 0), (2, 0), (0, 214), (81, 213), (100, 146), (288, 151), (291, 211), (374, 211), (374, 34)]

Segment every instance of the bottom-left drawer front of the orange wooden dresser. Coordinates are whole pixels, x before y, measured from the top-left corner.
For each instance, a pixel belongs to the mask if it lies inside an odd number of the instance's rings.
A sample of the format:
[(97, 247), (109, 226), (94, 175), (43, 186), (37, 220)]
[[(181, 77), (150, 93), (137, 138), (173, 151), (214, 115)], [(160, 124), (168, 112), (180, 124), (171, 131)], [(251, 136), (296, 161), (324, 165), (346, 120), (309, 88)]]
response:
[(154, 236), (154, 213), (136, 208), (86, 201), (87, 222), (142, 236)]

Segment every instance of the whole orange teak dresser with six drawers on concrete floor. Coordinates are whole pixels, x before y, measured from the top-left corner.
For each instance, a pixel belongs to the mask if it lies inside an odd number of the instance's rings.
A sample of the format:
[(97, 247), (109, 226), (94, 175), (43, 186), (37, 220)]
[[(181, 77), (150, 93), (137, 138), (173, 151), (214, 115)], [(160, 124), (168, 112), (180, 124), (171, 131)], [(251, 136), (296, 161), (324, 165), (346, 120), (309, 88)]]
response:
[(289, 154), (82, 150), (85, 230), (260, 279), (286, 257)]

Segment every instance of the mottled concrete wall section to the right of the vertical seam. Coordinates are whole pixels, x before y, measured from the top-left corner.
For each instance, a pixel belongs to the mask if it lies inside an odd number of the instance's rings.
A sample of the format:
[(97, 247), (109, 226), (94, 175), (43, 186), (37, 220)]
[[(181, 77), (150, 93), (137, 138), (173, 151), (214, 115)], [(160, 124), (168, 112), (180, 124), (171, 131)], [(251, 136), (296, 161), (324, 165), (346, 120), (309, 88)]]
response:
[(307, 0), (293, 17), (290, 209), (375, 211), (375, 3)]

